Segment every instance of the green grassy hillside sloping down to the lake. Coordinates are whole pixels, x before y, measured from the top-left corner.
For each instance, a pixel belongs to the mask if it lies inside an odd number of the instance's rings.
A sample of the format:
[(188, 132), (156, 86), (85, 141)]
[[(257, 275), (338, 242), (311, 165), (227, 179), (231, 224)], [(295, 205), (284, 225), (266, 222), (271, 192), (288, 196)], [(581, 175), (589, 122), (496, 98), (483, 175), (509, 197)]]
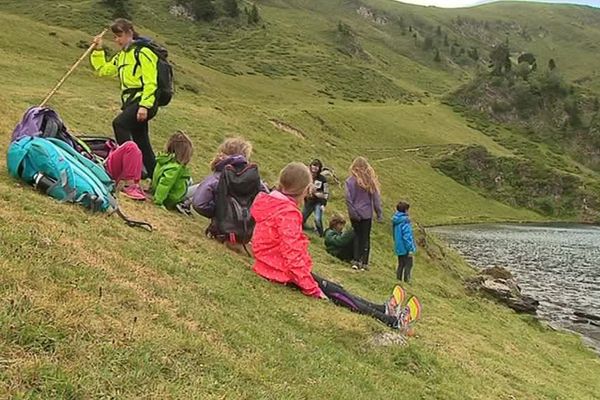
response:
[[(441, 11), (372, 4), (432, 26), (445, 18)], [(343, 179), (352, 158), (364, 154), (381, 177), (386, 216), (406, 198), (422, 224), (542, 218), (485, 198), (430, 165), (438, 154), (472, 144), (499, 157), (517, 154), (438, 101), (468, 68), (435, 66), (408, 42), (393, 43), (393, 32), (358, 15), (354, 2), (259, 5), (264, 29), (192, 24), (170, 16), (158, 0), (133, 7), (136, 21), (144, 22), (140, 30), (167, 43), (176, 64), (177, 96), (152, 123), (156, 148), (174, 129), (187, 130), (199, 178), (223, 137), (241, 134), (254, 143), (269, 182), (288, 161), (315, 156)], [(95, 1), (52, 7), (0, 1), (2, 162), (23, 111), (43, 98), (83, 51), (77, 44), (109, 15)], [(352, 26), (369, 59), (336, 49), (339, 19)], [(110, 135), (117, 97), (116, 82), (83, 67), (52, 106), (73, 131)], [(330, 211), (344, 210), (342, 193), (334, 188)], [(593, 399), (600, 393), (600, 362), (579, 338), (468, 297), (462, 278), (473, 272), (435, 238), (419, 253), (410, 288), (425, 307), (418, 336), (405, 346), (381, 346), (373, 339), (389, 333), (385, 327), (261, 280), (251, 260), (203, 237), (204, 220), (122, 203), (155, 232), (57, 204), (0, 172), (0, 397)], [(315, 270), (383, 300), (394, 277), (388, 230), (375, 227), (372, 270), (361, 274), (313, 238)]]

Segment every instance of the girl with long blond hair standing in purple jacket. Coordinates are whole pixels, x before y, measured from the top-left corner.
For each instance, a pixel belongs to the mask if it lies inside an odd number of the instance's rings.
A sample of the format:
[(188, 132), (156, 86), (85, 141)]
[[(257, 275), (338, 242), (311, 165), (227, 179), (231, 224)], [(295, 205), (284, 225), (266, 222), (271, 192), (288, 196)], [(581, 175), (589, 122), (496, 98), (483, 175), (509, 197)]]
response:
[(355, 234), (352, 268), (368, 270), (373, 210), (378, 222), (383, 221), (383, 212), (379, 179), (364, 157), (357, 157), (350, 166), (350, 177), (346, 179), (346, 206)]

